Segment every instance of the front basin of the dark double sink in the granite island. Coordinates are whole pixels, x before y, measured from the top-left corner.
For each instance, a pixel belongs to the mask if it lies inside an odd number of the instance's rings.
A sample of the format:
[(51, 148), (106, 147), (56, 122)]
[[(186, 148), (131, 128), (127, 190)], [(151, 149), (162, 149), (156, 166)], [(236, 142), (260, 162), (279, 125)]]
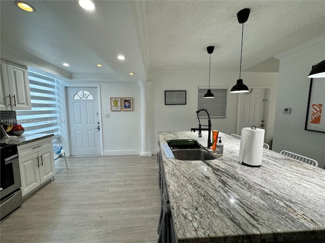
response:
[(210, 160), (216, 158), (203, 148), (172, 149), (172, 152), (175, 158), (180, 160)]

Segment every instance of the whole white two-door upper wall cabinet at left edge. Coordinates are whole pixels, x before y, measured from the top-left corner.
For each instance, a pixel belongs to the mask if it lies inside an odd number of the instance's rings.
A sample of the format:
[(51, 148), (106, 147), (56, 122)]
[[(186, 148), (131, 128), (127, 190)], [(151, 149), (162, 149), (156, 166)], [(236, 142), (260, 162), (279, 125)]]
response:
[(30, 110), (28, 71), (1, 59), (0, 110)]

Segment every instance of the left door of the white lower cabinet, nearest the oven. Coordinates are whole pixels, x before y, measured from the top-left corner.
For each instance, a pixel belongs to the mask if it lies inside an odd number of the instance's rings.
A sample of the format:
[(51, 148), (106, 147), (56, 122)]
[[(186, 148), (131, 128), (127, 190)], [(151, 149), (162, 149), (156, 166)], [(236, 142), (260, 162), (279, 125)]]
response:
[(37, 153), (19, 157), (21, 191), (23, 196), (41, 184), (39, 161), (37, 160)]

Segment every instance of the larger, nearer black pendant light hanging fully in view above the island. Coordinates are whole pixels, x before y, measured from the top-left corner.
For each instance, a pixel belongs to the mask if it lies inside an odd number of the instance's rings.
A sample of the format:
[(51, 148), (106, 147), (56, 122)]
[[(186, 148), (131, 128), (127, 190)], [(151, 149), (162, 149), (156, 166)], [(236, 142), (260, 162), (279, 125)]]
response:
[(247, 21), (250, 13), (250, 9), (242, 9), (237, 13), (237, 19), (240, 24), (243, 24), (242, 27), (242, 45), (240, 50), (240, 68), (239, 68), (239, 79), (237, 79), (237, 84), (232, 88), (230, 93), (246, 93), (248, 92), (248, 87), (243, 84), (243, 79), (240, 78), (242, 71), (242, 53), (243, 53), (243, 34), (244, 34), (244, 23)]

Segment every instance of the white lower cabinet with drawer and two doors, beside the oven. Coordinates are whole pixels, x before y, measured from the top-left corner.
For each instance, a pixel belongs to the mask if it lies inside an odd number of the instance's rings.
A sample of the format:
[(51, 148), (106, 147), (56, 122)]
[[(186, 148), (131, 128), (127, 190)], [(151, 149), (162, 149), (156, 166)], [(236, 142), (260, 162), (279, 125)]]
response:
[(23, 196), (55, 175), (52, 138), (20, 145), (18, 155)]

